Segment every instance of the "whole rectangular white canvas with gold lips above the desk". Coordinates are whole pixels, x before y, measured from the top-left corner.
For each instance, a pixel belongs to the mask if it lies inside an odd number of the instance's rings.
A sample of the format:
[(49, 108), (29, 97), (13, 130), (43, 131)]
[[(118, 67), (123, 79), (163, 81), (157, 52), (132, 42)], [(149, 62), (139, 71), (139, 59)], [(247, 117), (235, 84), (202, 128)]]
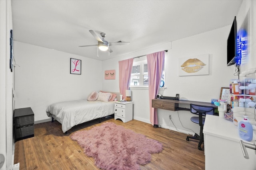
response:
[(209, 74), (209, 54), (179, 58), (179, 76), (196, 76)]

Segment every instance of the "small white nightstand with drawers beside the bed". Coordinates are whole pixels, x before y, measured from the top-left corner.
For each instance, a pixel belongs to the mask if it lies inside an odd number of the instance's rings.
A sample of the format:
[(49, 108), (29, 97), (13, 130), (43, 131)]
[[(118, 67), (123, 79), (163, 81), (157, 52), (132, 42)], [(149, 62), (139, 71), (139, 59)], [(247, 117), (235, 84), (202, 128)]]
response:
[(124, 123), (132, 120), (133, 102), (115, 102), (115, 120), (121, 119)]

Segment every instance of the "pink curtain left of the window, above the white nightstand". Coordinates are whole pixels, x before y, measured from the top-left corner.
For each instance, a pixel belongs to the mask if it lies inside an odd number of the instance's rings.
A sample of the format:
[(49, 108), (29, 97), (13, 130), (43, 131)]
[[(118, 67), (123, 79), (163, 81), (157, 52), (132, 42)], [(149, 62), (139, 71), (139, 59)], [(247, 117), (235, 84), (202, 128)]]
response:
[(125, 98), (125, 90), (130, 87), (130, 78), (132, 74), (133, 58), (119, 61), (119, 90)]

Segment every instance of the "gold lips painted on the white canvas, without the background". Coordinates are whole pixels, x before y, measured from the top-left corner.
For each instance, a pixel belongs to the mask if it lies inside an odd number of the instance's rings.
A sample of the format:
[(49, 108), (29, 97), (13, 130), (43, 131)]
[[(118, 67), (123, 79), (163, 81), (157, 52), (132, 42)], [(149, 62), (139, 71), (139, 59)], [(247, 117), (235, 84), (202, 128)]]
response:
[(206, 64), (204, 64), (202, 61), (198, 59), (188, 59), (185, 61), (181, 67), (182, 70), (184, 70), (187, 73), (192, 73), (192, 72), (198, 72), (201, 70)]

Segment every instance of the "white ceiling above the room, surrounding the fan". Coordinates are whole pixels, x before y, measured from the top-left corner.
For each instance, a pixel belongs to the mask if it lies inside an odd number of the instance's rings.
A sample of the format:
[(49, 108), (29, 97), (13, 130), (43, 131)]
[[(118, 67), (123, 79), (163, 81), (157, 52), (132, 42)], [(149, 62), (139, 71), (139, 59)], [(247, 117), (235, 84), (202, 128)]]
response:
[[(242, 0), (12, 0), (14, 40), (106, 60), (231, 25)], [(108, 42), (99, 51), (89, 30)], [(100, 36), (100, 35), (99, 35)], [(15, 48), (15, 47), (14, 47)], [(145, 54), (146, 55), (146, 54)]]

